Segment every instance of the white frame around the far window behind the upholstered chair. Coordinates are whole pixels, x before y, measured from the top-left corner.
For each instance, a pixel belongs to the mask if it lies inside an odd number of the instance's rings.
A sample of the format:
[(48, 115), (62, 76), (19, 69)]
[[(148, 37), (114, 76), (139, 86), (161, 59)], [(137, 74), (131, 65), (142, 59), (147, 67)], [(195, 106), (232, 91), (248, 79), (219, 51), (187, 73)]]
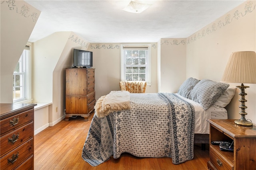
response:
[(151, 84), (151, 44), (121, 44), (120, 45), (120, 81), (125, 81), (126, 67), (124, 47), (147, 47), (148, 56), (146, 57), (146, 82)]

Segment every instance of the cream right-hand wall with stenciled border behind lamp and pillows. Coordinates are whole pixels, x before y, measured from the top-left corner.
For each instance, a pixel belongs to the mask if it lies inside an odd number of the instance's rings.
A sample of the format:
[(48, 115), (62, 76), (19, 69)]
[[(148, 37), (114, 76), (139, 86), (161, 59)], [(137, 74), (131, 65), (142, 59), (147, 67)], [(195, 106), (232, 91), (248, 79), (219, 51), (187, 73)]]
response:
[[(186, 78), (220, 81), (230, 54), (234, 51), (256, 51), (256, 1), (246, 1), (218, 20), (187, 38)], [(247, 119), (256, 124), (256, 85), (246, 89)], [(240, 84), (230, 84), (240, 86)], [(229, 119), (239, 119), (240, 96), (227, 107)]]

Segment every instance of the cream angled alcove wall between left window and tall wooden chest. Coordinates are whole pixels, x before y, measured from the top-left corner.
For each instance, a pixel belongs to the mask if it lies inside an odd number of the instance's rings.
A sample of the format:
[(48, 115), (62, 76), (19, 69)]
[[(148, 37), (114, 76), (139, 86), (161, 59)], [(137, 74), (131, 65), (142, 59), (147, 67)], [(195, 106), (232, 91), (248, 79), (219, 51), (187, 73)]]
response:
[(70, 31), (56, 32), (34, 43), (33, 102), (52, 103), (50, 126), (64, 118), (65, 69), (73, 66), (73, 49), (87, 50), (89, 44)]

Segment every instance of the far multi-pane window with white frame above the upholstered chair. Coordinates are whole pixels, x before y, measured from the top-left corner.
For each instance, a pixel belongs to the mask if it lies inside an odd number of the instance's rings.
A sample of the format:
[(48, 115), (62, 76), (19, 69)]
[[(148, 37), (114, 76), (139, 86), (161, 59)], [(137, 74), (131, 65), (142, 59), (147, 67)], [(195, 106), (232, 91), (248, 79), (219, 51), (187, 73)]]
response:
[(150, 45), (121, 45), (121, 81), (150, 83)]

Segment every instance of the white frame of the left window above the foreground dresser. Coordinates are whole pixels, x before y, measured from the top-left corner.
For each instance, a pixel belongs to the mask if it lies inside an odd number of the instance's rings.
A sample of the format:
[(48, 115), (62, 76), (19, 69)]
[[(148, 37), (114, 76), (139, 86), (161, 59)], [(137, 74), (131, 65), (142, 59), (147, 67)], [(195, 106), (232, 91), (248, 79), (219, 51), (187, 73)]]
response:
[[(14, 75), (14, 77), (16, 75), (22, 75), (22, 77), (23, 77), (23, 79), (20, 80), (21, 81), (20, 86), (22, 86), (22, 92), (20, 92), (21, 93), (20, 95), (22, 97), (18, 98), (18, 99), (13, 98), (13, 103), (31, 103), (32, 102), (32, 99), (31, 99), (31, 96), (32, 96), (31, 95), (32, 66), (31, 66), (31, 44), (30, 43), (27, 43), (18, 62), (20, 62), (22, 64), (22, 70), (21, 70), (21, 72), (14, 72), (13, 75)], [(15, 81), (14, 81), (14, 86), (13, 86), (14, 92), (15, 92), (15, 87), (17, 87), (17, 86), (15, 86)]]

